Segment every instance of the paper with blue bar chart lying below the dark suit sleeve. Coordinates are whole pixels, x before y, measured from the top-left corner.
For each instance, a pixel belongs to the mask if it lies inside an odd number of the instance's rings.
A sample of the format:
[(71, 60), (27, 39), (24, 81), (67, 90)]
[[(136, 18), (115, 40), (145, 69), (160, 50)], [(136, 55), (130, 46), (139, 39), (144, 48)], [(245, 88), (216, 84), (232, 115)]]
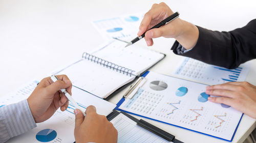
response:
[(192, 58), (184, 58), (172, 75), (205, 84), (222, 84), (232, 81), (244, 81), (250, 69), (250, 63), (241, 64), (236, 69), (226, 69), (205, 64)]

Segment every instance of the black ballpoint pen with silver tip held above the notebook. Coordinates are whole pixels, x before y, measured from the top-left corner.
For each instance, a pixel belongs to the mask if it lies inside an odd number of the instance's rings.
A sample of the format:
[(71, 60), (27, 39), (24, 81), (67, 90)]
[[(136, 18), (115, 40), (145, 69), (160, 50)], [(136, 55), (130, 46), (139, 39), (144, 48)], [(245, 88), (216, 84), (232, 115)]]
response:
[[(153, 28), (159, 28), (159, 27), (161, 27), (162, 25), (165, 25), (165, 24), (169, 23), (170, 21), (172, 21), (172, 20), (178, 18), (179, 15), (180, 15), (179, 12), (174, 13), (174, 14), (170, 15), (169, 17), (165, 18), (165, 19), (164, 19), (163, 21), (161, 21), (160, 23), (156, 24), (154, 27), (150, 28), (149, 30), (152, 30)], [(147, 31), (149, 31), (149, 30), (147, 30)], [(131, 42), (129, 42), (125, 47), (130, 46), (130, 45), (134, 44), (135, 42), (139, 41), (140, 39), (144, 38), (144, 37), (145, 37), (145, 33), (146, 33), (146, 32), (144, 32), (141, 36), (138, 36), (138, 37), (136, 37), (135, 39), (133, 39), (133, 40), (132, 40)]]

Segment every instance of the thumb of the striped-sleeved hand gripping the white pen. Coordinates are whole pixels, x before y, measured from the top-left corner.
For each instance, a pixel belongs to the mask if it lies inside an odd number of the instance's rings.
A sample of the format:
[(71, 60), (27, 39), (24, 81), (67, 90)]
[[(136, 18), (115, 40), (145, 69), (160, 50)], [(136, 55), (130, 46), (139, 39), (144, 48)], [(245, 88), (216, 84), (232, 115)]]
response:
[(61, 90), (61, 89), (67, 89), (68, 87), (72, 87), (72, 83), (70, 80), (57, 80), (50, 84), (47, 88), (47, 91), (49, 91), (51, 94), (54, 94), (55, 92)]

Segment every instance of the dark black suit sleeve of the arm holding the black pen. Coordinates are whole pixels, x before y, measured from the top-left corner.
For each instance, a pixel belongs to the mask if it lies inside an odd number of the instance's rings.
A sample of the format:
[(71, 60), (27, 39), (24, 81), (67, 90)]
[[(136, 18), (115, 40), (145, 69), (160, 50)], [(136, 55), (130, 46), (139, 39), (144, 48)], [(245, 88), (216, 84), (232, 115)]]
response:
[[(196, 46), (179, 55), (229, 69), (237, 68), (240, 64), (256, 58), (256, 19), (230, 32), (197, 27), (199, 38)], [(179, 42), (175, 41), (172, 47), (176, 54), (178, 45)]]

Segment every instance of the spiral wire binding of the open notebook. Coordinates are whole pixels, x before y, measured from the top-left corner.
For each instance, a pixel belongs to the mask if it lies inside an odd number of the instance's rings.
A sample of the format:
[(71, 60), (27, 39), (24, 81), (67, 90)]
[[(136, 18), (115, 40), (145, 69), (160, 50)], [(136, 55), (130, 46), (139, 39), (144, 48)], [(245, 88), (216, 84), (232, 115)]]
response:
[(132, 76), (132, 75), (136, 76), (135, 74), (133, 74), (133, 72), (135, 72), (135, 71), (133, 71), (131, 69), (128, 69), (128, 68), (125, 68), (125, 67), (122, 67), (122, 66), (118, 66), (118, 65), (116, 65), (114, 63), (111, 63), (109, 61), (105, 61), (105, 60), (103, 60), (101, 58), (98, 58), (97, 56), (94, 56), (92, 54), (89, 54), (87, 52), (84, 52), (82, 54), (82, 58), (86, 59), (86, 60), (89, 60), (89, 61), (92, 61), (94, 63), (100, 64), (100, 65), (103, 65), (103, 67), (106, 66), (106, 68), (116, 70), (117, 72), (120, 72), (120, 73), (130, 75), (130, 76)]

